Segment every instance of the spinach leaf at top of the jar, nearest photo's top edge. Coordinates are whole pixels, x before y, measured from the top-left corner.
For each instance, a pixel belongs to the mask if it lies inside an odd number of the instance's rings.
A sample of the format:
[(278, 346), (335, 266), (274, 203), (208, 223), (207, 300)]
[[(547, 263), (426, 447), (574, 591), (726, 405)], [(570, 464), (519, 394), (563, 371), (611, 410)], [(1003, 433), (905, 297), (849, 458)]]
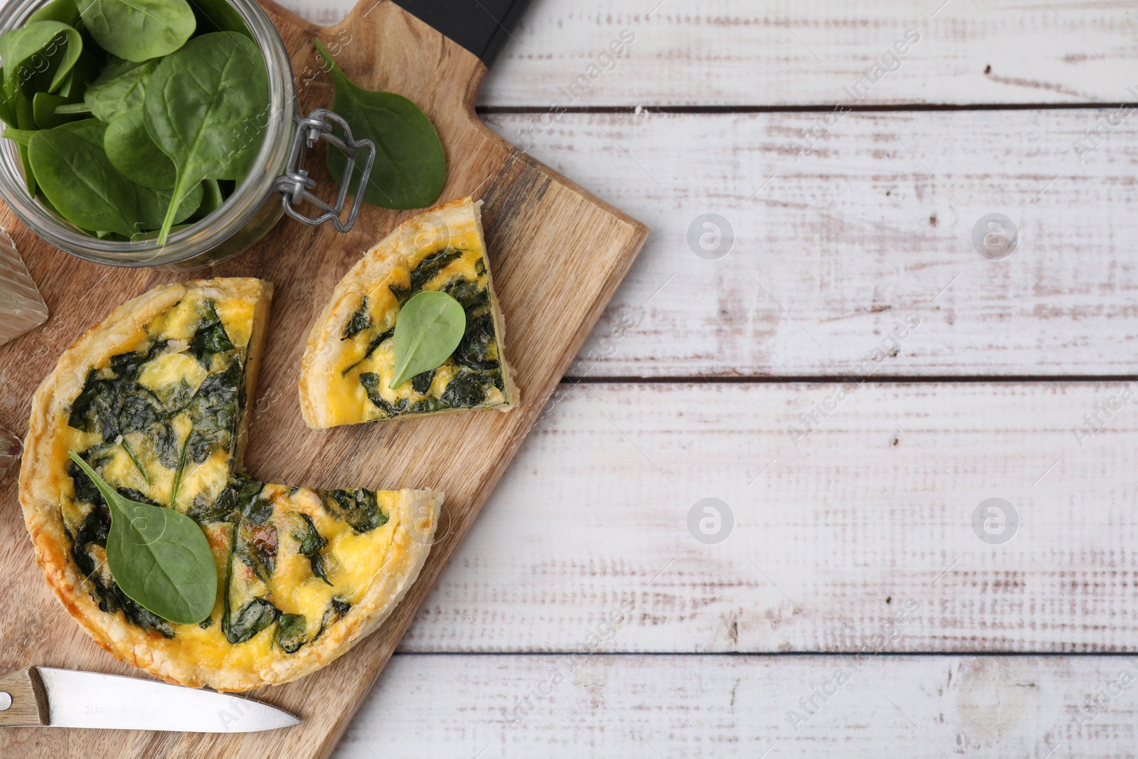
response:
[(126, 60), (148, 60), (178, 50), (197, 20), (185, 0), (77, 0), (94, 41)]

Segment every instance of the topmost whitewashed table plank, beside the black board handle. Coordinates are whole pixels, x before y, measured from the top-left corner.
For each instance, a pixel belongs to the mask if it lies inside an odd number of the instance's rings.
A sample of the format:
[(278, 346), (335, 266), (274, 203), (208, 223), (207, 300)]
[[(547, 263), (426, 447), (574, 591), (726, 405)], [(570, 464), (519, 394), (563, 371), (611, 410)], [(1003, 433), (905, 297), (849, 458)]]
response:
[[(1124, 0), (942, 3), (539, 0), (514, 31), (479, 102), (545, 108), (1135, 98), (1128, 92), (1138, 85), (1135, 22)], [(286, 5), (331, 24), (352, 1)], [(860, 99), (843, 92), (910, 28), (920, 40), (899, 64), (885, 61), (894, 71), (857, 93)], [(615, 61), (602, 58), (625, 30), (635, 36), (627, 51)], [(591, 72), (591, 65), (597, 68)]]

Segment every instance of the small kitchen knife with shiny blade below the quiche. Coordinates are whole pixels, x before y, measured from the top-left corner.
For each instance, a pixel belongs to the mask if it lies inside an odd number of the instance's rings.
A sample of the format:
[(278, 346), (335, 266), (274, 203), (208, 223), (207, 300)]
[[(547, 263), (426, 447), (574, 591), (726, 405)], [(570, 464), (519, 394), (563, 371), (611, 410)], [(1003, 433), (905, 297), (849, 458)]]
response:
[(259, 701), (137, 677), (52, 667), (0, 675), (0, 727), (255, 733), (299, 724)]

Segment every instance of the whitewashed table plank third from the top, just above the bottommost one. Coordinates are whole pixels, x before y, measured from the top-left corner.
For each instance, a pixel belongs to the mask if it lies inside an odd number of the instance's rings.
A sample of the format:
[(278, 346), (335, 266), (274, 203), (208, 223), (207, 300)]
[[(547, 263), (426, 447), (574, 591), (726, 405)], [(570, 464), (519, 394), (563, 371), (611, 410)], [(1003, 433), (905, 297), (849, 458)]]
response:
[(402, 650), (574, 651), (630, 605), (599, 650), (844, 653), (918, 603), (892, 651), (1135, 651), (1124, 387), (562, 386)]

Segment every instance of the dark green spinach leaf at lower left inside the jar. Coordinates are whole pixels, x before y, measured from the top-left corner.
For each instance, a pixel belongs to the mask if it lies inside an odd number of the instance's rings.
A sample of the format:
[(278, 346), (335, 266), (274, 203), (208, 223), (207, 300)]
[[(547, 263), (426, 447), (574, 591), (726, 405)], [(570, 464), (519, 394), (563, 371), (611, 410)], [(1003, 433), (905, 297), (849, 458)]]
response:
[[(28, 157), (40, 188), (61, 216), (82, 229), (130, 239), (162, 225), (172, 193), (123, 176), (102, 147), (106, 129), (86, 118), (40, 130), (31, 140)], [(182, 221), (200, 203), (201, 188), (190, 188), (174, 218)]]

